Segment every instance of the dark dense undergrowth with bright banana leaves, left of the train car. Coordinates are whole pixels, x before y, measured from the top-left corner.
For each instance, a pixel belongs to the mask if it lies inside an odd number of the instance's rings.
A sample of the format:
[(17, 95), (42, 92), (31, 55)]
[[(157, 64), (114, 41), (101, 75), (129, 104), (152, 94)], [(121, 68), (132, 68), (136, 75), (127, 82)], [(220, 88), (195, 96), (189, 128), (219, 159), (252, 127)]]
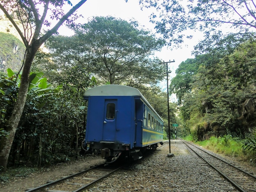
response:
[[(1, 127), (11, 114), (17, 97), (20, 75), (11, 69), (8, 76), (1, 76)], [(94, 79), (95, 80), (95, 79)], [(62, 92), (62, 85), (53, 87), (43, 73), (30, 73), (30, 86), (22, 118), (9, 156), (9, 165), (49, 165), (69, 161), (75, 155), (76, 124), (79, 142), (84, 138), (83, 124), (86, 108), (82, 93)], [(2, 93), (1, 92), (1, 93)], [(1, 134), (8, 133), (1, 129)]]

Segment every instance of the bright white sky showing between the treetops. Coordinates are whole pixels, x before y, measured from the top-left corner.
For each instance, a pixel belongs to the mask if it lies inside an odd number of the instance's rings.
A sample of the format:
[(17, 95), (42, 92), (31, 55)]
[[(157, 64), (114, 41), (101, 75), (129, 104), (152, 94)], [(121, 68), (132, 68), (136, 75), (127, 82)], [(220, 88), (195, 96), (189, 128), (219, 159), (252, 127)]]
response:
[[(77, 1), (78, 0), (71, 0), (73, 5)], [(153, 9), (144, 8), (141, 10), (138, 1), (139, 0), (128, 0), (126, 3), (125, 0), (87, 0), (77, 11), (83, 18), (79, 18), (76, 22), (85, 23), (90, 20), (92, 16), (114, 16), (124, 20), (136, 20), (144, 29), (154, 31), (154, 25), (149, 21), (149, 16)], [(64, 26), (60, 27), (58, 30), (58, 33), (61, 35), (68, 35), (70, 32), (71, 31), (68, 31)], [(184, 44), (181, 49), (174, 48), (171, 51), (171, 49), (169, 49), (171, 47), (164, 47), (162, 51), (156, 53), (156, 56), (162, 61), (175, 60), (175, 63), (169, 64), (169, 68), (172, 71), (169, 75), (170, 78), (175, 75), (175, 69), (177, 69), (182, 61), (187, 58), (193, 58), (191, 51), (197, 42), (198, 40), (193, 39), (186, 40), (185, 44), (187, 46)]]

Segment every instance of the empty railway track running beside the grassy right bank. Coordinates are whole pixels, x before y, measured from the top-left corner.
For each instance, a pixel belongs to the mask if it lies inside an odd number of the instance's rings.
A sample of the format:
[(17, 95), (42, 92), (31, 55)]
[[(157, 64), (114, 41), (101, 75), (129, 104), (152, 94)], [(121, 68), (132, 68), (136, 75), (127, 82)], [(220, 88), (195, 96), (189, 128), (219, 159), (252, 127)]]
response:
[(223, 178), (231, 183), (240, 192), (256, 192), (256, 176), (249, 171), (227, 162), (215, 154), (207, 152), (196, 145), (182, 140), (191, 153), (197, 154), (208, 163)]

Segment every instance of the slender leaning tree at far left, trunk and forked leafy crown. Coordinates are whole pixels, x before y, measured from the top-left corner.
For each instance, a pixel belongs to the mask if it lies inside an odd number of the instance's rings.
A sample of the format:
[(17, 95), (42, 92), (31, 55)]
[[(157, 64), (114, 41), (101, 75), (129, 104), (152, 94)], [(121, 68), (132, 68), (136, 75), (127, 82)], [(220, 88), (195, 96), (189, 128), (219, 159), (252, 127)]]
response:
[[(45, 40), (52, 36), (52, 34), (57, 32), (63, 22), (73, 22), (76, 15), (74, 15), (73, 18), (69, 17), (81, 7), (84, 2), (86, 2), (86, 0), (81, 0), (67, 13), (64, 13), (62, 8), (66, 3), (72, 5), (69, 0), (6, 0), (0, 2), (0, 9), (4, 12), (6, 18), (10, 20), (13, 27), (18, 31), (26, 47), (26, 56), (23, 63), (18, 98), (11, 117), (9, 118), (8, 126), (5, 127), (10, 134), (8, 138), (2, 138), (0, 166), (3, 167), (4, 171), (7, 170), (9, 152), (24, 109), (29, 87), (30, 67), (34, 56), (39, 47)], [(41, 7), (43, 7), (43, 9), (40, 9)], [(51, 11), (52, 14), (47, 18), (47, 13), (49, 11)], [(57, 20), (57, 23), (50, 29), (51, 22), (49, 20), (55, 19)], [(42, 33), (44, 26), (47, 27), (47, 31)]]

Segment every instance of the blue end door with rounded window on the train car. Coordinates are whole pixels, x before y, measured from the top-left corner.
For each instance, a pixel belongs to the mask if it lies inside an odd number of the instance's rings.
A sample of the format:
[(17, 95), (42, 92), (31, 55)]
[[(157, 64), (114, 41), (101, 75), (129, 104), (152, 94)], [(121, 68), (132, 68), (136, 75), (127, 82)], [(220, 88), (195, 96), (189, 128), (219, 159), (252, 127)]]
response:
[(115, 141), (116, 137), (116, 116), (117, 99), (105, 100), (103, 118), (103, 141)]

